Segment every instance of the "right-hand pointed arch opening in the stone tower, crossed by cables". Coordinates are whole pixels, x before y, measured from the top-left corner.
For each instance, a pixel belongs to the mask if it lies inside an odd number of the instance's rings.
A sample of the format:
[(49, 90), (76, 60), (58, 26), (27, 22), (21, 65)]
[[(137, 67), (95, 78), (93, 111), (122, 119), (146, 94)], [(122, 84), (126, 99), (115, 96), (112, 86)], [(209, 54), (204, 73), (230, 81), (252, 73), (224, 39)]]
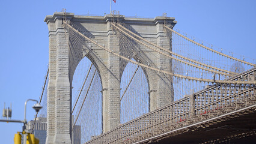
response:
[[(132, 59), (135, 61), (135, 59)], [(120, 82), (120, 122), (137, 118), (149, 112), (148, 82), (144, 70), (129, 62), (124, 68)], [(135, 73), (136, 71), (136, 73)], [(135, 73), (135, 74), (134, 74)], [(133, 77), (134, 74), (134, 77)], [(133, 79), (132, 79), (133, 77)], [(132, 80), (131, 80), (132, 79)], [(131, 80), (131, 82), (130, 82)], [(130, 84), (129, 84), (130, 83)], [(129, 85), (129, 86), (128, 86)], [(127, 87), (128, 86), (128, 87)]]

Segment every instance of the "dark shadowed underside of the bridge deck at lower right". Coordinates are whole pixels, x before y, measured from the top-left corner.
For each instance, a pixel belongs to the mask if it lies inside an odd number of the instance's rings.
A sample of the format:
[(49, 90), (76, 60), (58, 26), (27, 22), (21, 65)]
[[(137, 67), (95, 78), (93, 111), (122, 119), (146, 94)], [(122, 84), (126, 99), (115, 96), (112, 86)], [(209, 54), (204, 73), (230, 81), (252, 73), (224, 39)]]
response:
[(255, 143), (256, 105), (136, 143)]

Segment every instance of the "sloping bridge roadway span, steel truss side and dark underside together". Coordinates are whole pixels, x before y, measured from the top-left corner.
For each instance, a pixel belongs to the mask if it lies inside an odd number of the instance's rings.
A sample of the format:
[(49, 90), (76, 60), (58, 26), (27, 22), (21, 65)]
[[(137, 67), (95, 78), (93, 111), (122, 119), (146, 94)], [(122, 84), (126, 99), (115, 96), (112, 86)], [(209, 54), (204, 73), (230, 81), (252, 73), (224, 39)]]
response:
[[(256, 80), (256, 67), (228, 80)], [(255, 143), (256, 86), (216, 84), (87, 143)]]

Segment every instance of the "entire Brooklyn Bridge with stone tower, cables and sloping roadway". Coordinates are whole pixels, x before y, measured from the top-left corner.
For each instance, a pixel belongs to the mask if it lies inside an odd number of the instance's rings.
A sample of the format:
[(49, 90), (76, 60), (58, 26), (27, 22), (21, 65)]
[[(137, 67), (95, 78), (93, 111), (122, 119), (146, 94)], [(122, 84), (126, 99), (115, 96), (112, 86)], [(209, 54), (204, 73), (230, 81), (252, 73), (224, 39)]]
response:
[(190, 37), (166, 14), (44, 22), (46, 143), (255, 142), (255, 59)]

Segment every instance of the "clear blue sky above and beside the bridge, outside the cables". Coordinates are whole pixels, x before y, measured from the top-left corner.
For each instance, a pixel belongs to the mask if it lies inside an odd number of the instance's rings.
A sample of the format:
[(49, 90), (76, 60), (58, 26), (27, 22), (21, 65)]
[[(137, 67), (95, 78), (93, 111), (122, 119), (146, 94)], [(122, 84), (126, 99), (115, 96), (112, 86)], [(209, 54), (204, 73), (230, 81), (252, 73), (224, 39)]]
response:
[[(109, 14), (106, 1), (1, 1), (0, 4), (0, 110), (10, 103), (12, 119), (23, 119), (24, 103), (38, 100), (48, 62), (46, 15), (66, 8), (75, 14)], [(175, 17), (178, 29), (221, 47), (224, 50), (255, 58), (256, 1), (153, 1), (130, 0), (112, 3), (112, 10), (124, 16), (156, 17), (167, 13)], [(239, 57), (240, 58), (240, 57)], [(245, 59), (246, 60), (246, 59)], [(34, 118), (30, 101), (27, 119)], [(1, 143), (13, 143), (22, 124), (0, 122)]]

